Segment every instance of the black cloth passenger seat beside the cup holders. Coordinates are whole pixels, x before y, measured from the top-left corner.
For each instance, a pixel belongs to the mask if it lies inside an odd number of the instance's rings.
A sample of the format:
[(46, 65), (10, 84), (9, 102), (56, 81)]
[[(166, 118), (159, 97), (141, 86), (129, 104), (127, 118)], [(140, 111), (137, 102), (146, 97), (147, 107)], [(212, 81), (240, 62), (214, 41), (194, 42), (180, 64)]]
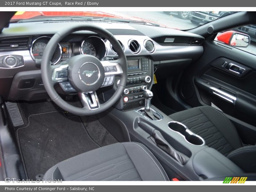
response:
[[(200, 135), (208, 147), (229, 158), (245, 172), (256, 172), (256, 146), (243, 146), (232, 122), (212, 107), (195, 107), (169, 116)], [(246, 157), (246, 158), (244, 158)]]

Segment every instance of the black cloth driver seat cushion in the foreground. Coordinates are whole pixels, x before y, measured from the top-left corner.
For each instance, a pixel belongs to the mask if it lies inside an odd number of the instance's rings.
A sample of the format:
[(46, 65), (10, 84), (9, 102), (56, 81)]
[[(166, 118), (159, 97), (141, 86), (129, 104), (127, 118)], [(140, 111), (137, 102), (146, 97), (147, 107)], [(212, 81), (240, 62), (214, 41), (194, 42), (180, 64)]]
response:
[(44, 179), (169, 180), (156, 157), (148, 148), (136, 142), (115, 143), (71, 157), (50, 168)]

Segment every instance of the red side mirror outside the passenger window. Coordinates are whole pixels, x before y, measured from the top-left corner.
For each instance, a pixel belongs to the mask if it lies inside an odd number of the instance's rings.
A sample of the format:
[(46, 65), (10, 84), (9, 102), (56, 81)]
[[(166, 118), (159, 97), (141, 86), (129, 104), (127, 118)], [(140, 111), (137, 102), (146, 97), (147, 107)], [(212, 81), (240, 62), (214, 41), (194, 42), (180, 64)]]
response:
[(217, 36), (218, 41), (233, 47), (248, 47), (250, 36), (236, 31), (226, 31)]

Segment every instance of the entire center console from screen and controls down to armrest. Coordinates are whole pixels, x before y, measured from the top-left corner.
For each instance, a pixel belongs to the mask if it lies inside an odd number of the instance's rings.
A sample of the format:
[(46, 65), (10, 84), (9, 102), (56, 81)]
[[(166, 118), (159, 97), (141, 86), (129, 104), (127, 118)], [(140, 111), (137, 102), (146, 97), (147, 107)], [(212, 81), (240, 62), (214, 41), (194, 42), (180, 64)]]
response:
[[(127, 60), (127, 84), (119, 102), (120, 108), (109, 109), (110, 113), (102, 117), (105, 120), (100, 120), (108, 124), (112, 122), (111, 134), (123, 138), (120, 142), (144, 144), (158, 158), (170, 179), (205, 180), (244, 174), (231, 160), (208, 147), (205, 140), (185, 124), (172, 120), (150, 104), (153, 97), (150, 91), (153, 84), (152, 60), (147, 57)], [(121, 129), (113, 123), (115, 121), (119, 121)]]

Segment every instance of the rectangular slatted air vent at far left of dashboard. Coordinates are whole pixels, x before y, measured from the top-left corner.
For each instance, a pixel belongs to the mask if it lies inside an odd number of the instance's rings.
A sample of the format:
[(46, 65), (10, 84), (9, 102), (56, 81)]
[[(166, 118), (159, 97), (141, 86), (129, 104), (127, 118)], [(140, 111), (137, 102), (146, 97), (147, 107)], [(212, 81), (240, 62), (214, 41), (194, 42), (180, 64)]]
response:
[(0, 49), (28, 48), (29, 37), (10, 37), (0, 39)]

